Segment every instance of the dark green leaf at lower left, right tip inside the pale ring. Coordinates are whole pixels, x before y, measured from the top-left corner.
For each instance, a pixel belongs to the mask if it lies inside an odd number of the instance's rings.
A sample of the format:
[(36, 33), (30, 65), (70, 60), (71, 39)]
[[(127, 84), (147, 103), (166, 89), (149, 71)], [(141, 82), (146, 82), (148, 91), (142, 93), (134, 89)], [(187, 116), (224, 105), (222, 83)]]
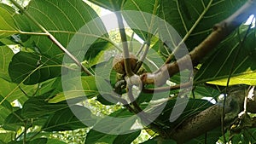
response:
[[(73, 112), (79, 113), (74, 115)], [(55, 112), (44, 124), (44, 131), (76, 130), (91, 126), (96, 123), (96, 119), (91, 116), (91, 112), (86, 107), (71, 106)], [(90, 125), (85, 125), (85, 124)]]

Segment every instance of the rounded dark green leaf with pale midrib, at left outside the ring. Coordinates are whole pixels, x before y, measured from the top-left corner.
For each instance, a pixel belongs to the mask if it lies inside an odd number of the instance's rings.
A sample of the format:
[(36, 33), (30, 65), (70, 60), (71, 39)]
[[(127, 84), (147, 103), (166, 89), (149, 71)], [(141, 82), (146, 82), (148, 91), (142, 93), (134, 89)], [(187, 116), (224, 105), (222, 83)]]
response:
[(19, 52), (9, 64), (9, 76), (18, 84), (38, 84), (60, 75), (61, 61), (48, 55)]

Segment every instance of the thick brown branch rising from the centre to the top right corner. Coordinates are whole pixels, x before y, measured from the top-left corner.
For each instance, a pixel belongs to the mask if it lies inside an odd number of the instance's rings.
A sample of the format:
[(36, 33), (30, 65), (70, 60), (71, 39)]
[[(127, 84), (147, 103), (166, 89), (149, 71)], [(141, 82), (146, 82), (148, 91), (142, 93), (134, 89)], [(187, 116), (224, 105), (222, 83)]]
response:
[[(154, 73), (144, 73), (141, 76), (143, 84), (155, 84), (160, 86), (166, 83), (166, 80), (172, 77), (177, 72), (183, 71), (183, 68), (189, 67), (191, 60), (193, 66), (196, 66), (212, 49), (221, 43), (227, 36), (230, 35), (237, 27), (241, 26), (242, 22), (246, 21), (251, 14), (255, 14), (256, 1), (248, 0), (235, 14), (213, 26), (212, 33), (194, 50), (189, 52), (189, 55), (183, 58), (162, 66), (161, 69)], [(178, 65), (183, 65), (180, 68)]]

